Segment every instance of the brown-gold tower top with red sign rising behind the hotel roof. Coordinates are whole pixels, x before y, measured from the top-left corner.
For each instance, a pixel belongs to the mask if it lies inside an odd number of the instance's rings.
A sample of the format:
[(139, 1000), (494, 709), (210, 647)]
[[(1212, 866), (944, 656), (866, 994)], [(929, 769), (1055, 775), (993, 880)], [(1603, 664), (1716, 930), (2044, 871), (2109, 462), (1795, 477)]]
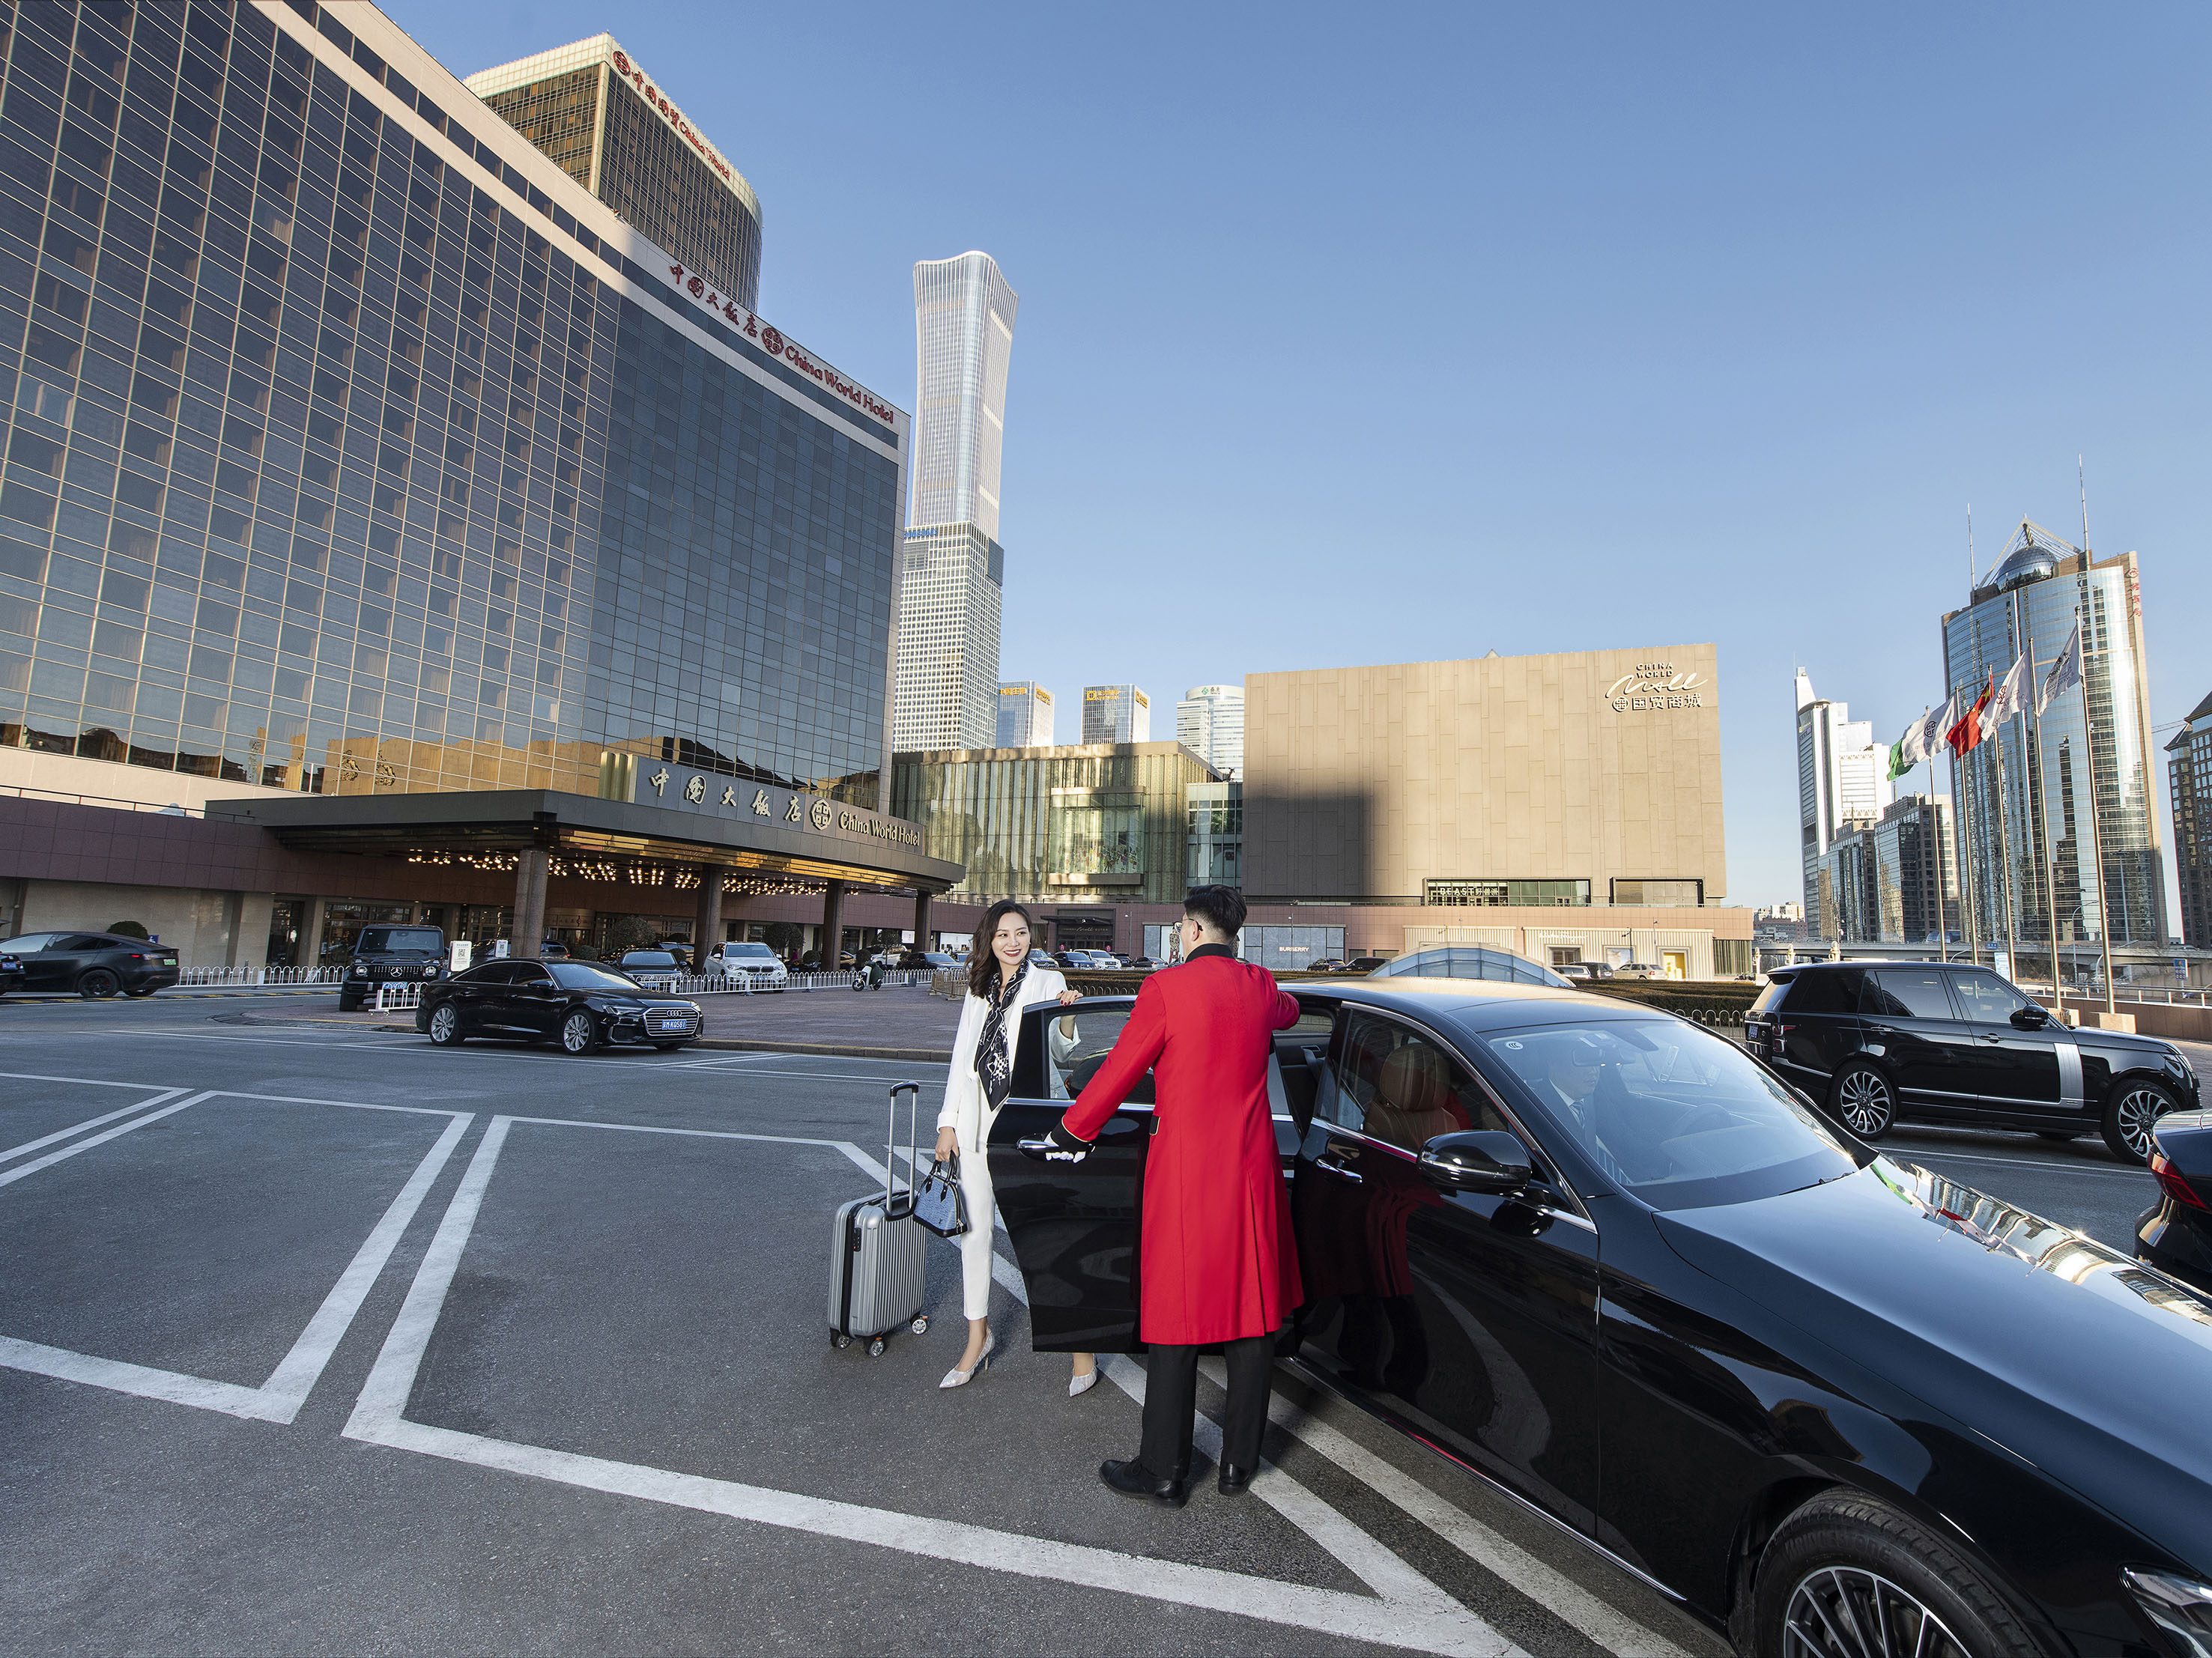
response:
[(465, 82), (646, 241), (743, 309), (761, 303), (761, 199), (613, 35)]

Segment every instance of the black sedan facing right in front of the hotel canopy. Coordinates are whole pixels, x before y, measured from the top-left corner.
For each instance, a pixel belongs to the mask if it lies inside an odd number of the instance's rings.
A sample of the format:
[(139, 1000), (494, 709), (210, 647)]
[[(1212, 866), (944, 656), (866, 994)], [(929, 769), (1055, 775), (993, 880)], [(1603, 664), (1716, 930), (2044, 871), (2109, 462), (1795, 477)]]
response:
[(416, 1030), (453, 1048), (469, 1037), (557, 1039), (571, 1054), (608, 1043), (681, 1048), (699, 1035), (699, 1004), (657, 995), (595, 962), (509, 957), (422, 986)]

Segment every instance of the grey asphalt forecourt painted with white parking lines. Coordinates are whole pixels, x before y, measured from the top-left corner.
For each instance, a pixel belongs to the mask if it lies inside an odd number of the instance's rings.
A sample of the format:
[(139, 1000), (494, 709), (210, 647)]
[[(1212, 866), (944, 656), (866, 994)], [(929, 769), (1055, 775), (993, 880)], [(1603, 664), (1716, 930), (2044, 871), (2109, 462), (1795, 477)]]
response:
[[(301, 1012), (0, 1004), (9, 1649), (1723, 1651), (1287, 1371), (1252, 1499), (1110, 1497), (1141, 1366), (1071, 1402), (1006, 1262), (973, 1386), (949, 1245), (927, 1335), (832, 1351), (830, 1211), (942, 1072)], [(1893, 1145), (2119, 1247), (2148, 1203), (2095, 1141)]]

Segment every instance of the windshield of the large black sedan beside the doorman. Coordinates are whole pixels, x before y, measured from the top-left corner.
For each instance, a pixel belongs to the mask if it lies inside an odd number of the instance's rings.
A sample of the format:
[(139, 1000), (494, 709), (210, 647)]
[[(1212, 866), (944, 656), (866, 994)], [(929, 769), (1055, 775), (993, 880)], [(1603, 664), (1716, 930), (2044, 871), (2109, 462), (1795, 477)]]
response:
[(1730, 1041), (1681, 1019), (1484, 1032), (1491, 1057), (1613, 1180), (1655, 1209), (1772, 1198), (1858, 1167), (1851, 1147)]

